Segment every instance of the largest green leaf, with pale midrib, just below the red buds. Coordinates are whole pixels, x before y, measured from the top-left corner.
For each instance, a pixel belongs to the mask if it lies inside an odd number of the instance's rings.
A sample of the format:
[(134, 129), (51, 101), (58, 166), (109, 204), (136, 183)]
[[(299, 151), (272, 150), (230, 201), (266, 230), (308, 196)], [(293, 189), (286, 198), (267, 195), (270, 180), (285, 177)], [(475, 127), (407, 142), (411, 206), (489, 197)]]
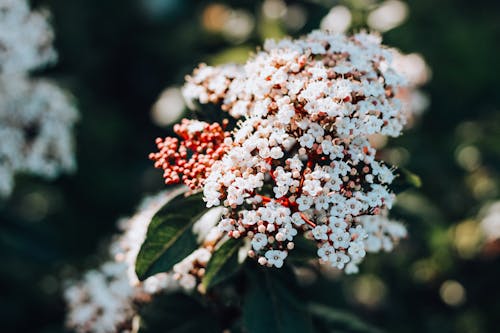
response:
[(207, 210), (201, 194), (185, 197), (182, 193), (155, 214), (136, 259), (139, 280), (172, 269), (196, 250), (192, 226)]

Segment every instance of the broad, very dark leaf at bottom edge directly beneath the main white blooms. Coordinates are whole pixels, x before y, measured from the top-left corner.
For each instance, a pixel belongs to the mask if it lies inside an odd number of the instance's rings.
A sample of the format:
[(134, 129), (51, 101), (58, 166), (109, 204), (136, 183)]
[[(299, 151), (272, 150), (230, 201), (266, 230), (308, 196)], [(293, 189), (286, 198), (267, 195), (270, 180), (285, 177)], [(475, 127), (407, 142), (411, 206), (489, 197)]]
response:
[(301, 302), (291, 293), (298, 288), (265, 269), (253, 274), (243, 303), (243, 325), (249, 333), (312, 332), (312, 319)]

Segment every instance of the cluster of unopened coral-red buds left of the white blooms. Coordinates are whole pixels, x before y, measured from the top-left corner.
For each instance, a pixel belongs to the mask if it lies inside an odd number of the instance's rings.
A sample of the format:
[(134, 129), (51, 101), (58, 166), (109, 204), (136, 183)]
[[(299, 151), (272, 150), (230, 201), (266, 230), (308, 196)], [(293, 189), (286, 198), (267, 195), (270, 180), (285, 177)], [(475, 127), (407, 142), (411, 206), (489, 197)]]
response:
[[(222, 124), (224, 127), (227, 123)], [(197, 120), (183, 119), (174, 126), (174, 132), (180, 137), (157, 138), (158, 152), (149, 158), (155, 161), (155, 167), (164, 170), (166, 184), (178, 184), (181, 181), (191, 190), (203, 185), (210, 166), (226, 153), (225, 138), (229, 132), (218, 123), (208, 124)]]

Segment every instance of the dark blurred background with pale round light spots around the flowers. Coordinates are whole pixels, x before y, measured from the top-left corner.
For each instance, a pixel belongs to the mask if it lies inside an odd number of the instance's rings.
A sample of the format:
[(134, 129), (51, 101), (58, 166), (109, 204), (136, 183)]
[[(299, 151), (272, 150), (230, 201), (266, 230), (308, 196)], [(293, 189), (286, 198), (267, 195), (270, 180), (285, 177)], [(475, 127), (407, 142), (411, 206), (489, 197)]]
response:
[[(265, 38), (370, 28), (432, 73), (422, 109), (384, 159), (423, 186), (393, 216), (409, 239), (355, 276), (311, 286), (385, 332), (497, 332), (500, 319), (500, 2), (496, 0), (37, 0), (59, 61), (34, 75), (80, 110), (77, 170), (16, 177), (0, 200), (0, 331), (64, 332), (63, 280), (95, 267), (116, 221), (161, 190), (147, 159), (185, 110), (199, 62), (243, 62)], [(428, 105), (427, 107), (425, 107)], [(331, 275), (331, 274), (330, 274)]]

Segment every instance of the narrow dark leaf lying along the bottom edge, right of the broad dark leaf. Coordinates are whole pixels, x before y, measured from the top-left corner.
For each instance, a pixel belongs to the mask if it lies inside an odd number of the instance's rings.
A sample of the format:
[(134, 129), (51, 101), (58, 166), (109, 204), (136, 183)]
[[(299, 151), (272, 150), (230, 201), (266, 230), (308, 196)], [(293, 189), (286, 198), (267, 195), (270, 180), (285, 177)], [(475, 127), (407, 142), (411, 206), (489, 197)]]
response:
[(348, 332), (382, 333), (378, 328), (370, 326), (357, 316), (344, 310), (334, 309), (318, 303), (309, 304), (308, 309), (314, 317), (318, 317), (331, 324), (335, 331), (343, 328)]

